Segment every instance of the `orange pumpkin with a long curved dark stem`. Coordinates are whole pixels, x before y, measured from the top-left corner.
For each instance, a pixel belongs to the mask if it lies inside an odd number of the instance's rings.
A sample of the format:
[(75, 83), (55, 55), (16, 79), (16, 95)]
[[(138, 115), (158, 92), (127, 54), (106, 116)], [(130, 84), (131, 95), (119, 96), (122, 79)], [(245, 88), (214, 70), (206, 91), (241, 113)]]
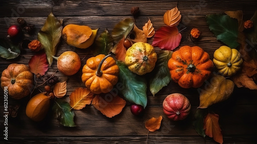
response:
[(82, 69), (82, 82), (95, 94), (108, 93), (118, 82), (119, 67), (111, 55), (89, 58)]

